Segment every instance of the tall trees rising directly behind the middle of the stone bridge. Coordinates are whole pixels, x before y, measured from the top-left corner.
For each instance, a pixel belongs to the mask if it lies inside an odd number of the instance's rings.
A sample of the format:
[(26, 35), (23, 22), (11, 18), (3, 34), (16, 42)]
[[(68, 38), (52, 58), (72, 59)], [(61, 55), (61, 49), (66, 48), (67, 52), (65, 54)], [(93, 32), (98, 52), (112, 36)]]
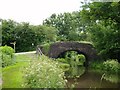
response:
[(79, 11), (58, 15), (52, 14), (44, 20), (43, 25), (58, 29), (58, 41), (79, 41), (85, 40), (87, 37), (85, 23), (81, 22)]

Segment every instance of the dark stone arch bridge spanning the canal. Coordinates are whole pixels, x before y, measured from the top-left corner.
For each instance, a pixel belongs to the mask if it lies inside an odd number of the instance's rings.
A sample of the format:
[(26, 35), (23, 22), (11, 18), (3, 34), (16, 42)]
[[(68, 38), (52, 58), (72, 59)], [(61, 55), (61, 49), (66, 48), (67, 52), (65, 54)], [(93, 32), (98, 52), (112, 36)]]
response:
[(66, 51), (77, 51), (79, 54), (83, 54), (86, 57), (85, 66), (97, 58), (97, 53), (92, 44), (80, 43), (80, 42), (56, 42), (49, 46), (47, 52), (42, 46), (37, 46), (37, 53), (43, 53), (50, 58), (58, 58), (60, 54)]

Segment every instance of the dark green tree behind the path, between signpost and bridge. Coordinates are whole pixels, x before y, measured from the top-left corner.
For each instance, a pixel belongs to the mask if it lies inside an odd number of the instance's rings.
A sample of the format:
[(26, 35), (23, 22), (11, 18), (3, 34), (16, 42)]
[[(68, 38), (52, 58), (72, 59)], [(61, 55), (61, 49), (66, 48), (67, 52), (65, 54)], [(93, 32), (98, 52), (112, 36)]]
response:
[(35, 49), (35, 34), (29, 23), (21, 23), (16, 26), (16, 50), (19, 52)]

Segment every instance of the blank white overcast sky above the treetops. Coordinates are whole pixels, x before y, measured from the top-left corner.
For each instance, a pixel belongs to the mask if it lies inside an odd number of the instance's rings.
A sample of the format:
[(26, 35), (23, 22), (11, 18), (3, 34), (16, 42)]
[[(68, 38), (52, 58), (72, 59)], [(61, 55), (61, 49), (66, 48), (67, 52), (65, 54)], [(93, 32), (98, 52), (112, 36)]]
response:
[(0, 18), (42, 24), (53, 13), (79, 11), (84, 0), (0, 0)]

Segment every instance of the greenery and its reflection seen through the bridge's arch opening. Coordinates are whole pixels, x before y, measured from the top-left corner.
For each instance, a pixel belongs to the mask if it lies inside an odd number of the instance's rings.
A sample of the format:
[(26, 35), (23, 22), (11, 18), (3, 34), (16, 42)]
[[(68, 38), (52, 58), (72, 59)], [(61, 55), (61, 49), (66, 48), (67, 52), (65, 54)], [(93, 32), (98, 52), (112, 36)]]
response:
[(69, 70), (65, 72), (67, 77), (76, 77), (84, 74), (86, 56), (82, 52), (69, 50), (60, 53), (58, 58), (58, 60), (62, 60), (61, 62), (69, 64)]

